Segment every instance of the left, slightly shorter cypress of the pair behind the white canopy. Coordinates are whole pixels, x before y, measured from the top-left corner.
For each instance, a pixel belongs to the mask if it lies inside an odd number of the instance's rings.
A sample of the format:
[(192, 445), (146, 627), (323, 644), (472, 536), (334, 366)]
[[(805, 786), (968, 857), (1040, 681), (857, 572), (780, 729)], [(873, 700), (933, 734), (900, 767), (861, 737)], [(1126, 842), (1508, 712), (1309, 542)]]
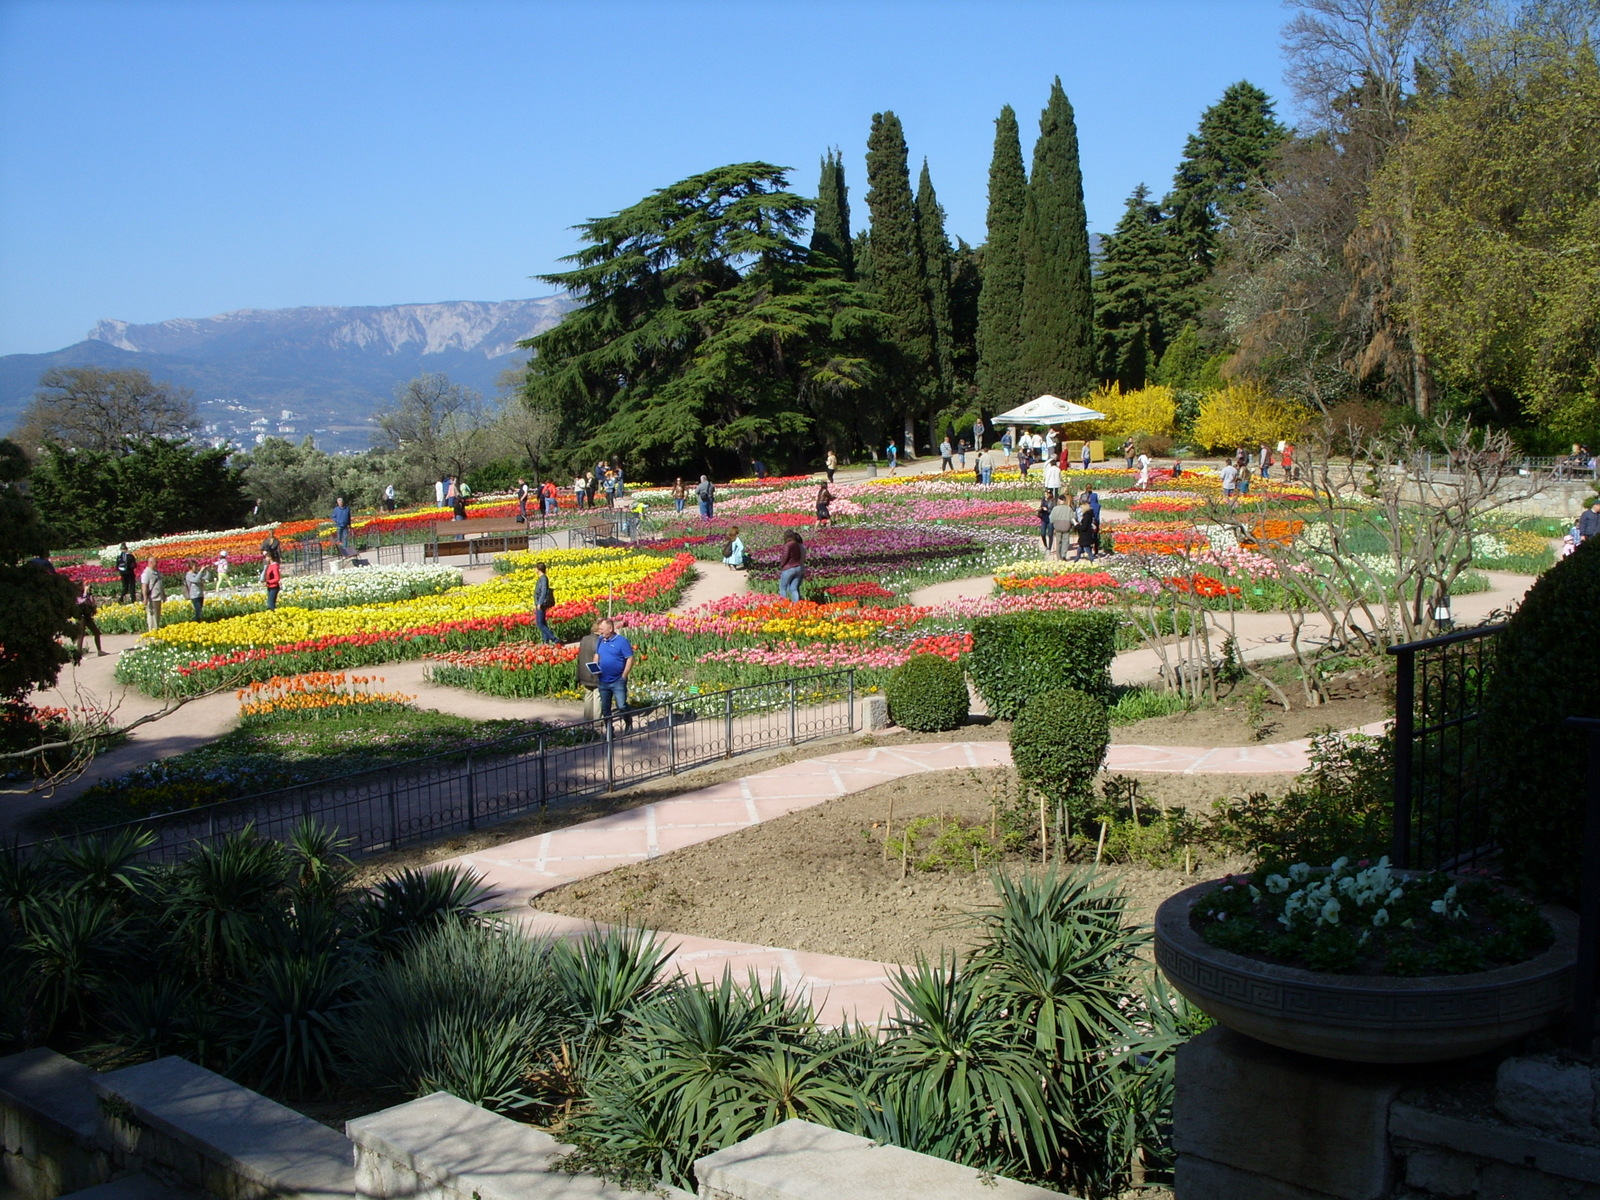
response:
[(987, 413), (1029, 400), (1022, 379), (1022, 210), (1027, 171), (1016, 112), (1006, 104), (995, 120), (989, 163), (989, 240), (978, 294), (978, 395)]

